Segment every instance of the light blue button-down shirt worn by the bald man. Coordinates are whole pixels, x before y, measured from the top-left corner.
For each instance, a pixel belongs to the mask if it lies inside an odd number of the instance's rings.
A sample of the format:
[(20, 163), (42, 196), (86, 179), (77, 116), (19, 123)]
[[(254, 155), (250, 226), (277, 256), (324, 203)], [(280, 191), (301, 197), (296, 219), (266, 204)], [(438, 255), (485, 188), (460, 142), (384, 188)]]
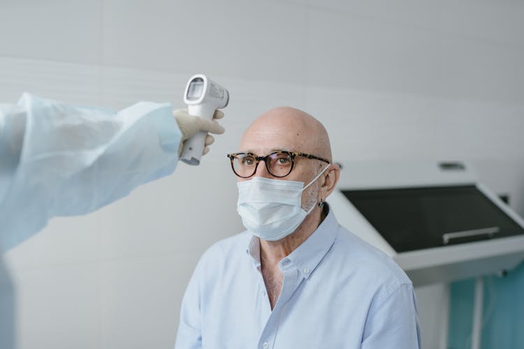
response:
[(271, 310), (259, 239), (243, 232), (214, 244), (189, 281), (175, 348), (420, 347), (411, 281), (332, 212), (279, 268)]

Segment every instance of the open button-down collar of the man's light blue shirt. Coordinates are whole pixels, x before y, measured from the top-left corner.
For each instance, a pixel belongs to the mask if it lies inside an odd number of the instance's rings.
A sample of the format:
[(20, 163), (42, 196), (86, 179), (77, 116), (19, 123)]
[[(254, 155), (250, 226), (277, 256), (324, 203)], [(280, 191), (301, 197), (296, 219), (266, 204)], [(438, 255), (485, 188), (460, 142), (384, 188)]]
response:
[[(327, 205), (325, 209), (328, 211), (328, 215), (313, 234), (298, 246), (295, 251), (279, 262), (281, 270), (295, 267), (307, 279), (326, 253), (328, 253), (331, 246), (333, 246), (333, 242), (335, 242), (338, 223), (333, 211)], [(252, 237), (246, 252), (251, 256), (255, 266), (260, 268), (260, 240), (258, 237)]]

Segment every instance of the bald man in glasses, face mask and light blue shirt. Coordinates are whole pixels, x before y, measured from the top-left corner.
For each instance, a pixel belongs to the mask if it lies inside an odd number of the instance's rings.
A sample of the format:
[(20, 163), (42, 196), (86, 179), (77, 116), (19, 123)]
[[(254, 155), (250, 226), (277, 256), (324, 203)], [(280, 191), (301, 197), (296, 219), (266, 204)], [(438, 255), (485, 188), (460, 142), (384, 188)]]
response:
[(247, 230), (198, 262), (175, 348), (419, 348), (411, 281), (325, 203), (340, 168), (319, 121), (270, 110), (228, 158)]

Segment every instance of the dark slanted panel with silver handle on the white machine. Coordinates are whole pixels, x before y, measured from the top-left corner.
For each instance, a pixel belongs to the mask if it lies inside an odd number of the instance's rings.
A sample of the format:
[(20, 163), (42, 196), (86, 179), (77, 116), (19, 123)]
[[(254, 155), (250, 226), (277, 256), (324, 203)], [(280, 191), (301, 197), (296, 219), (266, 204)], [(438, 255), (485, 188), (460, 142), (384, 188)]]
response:
[(398, 253), (524, 234), (474, 185), (342, 193)]

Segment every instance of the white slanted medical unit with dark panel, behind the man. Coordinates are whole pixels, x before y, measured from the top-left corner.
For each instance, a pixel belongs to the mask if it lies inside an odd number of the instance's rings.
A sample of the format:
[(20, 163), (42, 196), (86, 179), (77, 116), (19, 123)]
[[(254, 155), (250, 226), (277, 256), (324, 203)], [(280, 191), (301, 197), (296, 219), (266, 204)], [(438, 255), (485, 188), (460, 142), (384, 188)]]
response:
[(343, 165), (328, 200), (340, 224), (390, 255), (415, 286), (495, 274), (524, 259), (524, 220), (469, 166)]

